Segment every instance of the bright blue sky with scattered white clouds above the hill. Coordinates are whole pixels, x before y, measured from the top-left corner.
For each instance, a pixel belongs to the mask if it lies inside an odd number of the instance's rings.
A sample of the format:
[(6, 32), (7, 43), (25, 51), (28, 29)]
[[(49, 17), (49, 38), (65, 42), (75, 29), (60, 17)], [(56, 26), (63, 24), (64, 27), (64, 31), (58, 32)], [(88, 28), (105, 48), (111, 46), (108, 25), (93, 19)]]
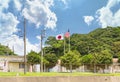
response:
[(43, 29), (45, 42), (68, 29), (72, 35), (120, 26), (120, 0), (0, 0), (0, 43), (20, 56), (24, 55), (24, 18), (27, 53), (39, 52)]

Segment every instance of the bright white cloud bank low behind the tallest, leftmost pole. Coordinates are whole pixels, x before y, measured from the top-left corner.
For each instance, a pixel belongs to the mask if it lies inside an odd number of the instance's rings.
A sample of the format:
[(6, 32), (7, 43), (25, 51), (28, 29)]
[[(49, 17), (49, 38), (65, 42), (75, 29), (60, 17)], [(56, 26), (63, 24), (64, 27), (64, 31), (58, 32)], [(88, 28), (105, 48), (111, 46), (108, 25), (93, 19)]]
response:
[[(13, 50), (14, 46), (14, 52), (20, 56), (24, 55), (24, 42), (23, 38), (19, 38), (16, 35), (11, 35), (9, 37), (2, 37), (1, 39), (4, 39), (1, 44), (9, 46), (10, 49)], [(40, 45), (39, 44), (31, 44), (28, 39), (26, 39), (26, 54), (29, 53), (31, 50), (39, 52), (40, 51)]]

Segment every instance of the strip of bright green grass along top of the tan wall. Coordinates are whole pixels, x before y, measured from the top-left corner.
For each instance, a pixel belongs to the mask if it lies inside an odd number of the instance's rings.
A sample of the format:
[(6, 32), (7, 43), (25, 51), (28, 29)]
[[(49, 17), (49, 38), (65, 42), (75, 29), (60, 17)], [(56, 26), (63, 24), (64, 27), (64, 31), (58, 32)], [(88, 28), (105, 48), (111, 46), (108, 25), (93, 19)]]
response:
[(17, 72), (0, 72), (0, 77), (14, 76), (120, 76), (120, 73), (100, 74), (100, 73), (17, 73)]

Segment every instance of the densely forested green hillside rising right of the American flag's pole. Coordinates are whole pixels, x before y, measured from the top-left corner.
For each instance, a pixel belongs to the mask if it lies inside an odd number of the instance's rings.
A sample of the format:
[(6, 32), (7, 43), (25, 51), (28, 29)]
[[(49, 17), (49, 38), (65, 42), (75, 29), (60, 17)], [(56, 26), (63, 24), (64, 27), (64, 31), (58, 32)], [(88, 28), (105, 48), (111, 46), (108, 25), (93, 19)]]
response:
[(120, 27), (98, 28), (89, 34), (71, 35), (71, 48), (81, 55), (108, 50), (112, 55), (120, 54)]

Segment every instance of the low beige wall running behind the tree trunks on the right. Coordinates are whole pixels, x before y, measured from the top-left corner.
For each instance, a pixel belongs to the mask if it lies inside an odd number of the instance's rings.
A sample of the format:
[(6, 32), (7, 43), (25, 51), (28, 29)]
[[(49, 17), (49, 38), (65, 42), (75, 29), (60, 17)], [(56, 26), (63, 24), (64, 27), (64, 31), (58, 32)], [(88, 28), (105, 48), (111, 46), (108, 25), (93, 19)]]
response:
[[(60, 67), (60, 68), (59, 68)], [(120, 73), (120, 63), (118, 64), (83, 64), (77, 69), (66, 69), (58, 66), (60, 72), (92, 72), (92, 73)]]

